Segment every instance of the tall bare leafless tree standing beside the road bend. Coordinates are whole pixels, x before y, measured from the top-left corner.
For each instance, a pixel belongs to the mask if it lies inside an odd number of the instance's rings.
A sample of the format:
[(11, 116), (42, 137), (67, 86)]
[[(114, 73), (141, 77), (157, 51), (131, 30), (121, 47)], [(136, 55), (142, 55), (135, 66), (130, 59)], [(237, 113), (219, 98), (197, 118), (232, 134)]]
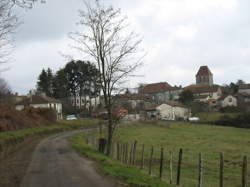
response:
[(120, 9), (105, 7), (99, 0), (92, 4), (84, 2), (85, 10), (80, 10), (80, 26), (83, 32), (70, 33), (69, 36), (80, 52), (90, 56), (100, 71), (101, 89), (108, 112), (107, 154), (116, 127), (114, 100), (112, 95), (119, 92), (125, 78), (141, 65), (139, 55), (141, 38), (128, 31), (126, 17)]

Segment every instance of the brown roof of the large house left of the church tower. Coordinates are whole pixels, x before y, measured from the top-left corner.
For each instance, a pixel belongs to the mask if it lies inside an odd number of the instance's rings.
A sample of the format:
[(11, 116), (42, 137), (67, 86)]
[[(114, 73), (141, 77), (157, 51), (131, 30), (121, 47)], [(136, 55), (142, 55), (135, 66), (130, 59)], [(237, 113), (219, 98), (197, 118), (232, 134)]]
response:
[(142, 93), (143, 94), (158, 93), (158, 92), (163, 92), (167, 90), (172, 90), (175, 88), (178, 88), (178, 87), (172, 87), (167, 82), (159, 82), (159, 83), (145, 85), (142, 89)]

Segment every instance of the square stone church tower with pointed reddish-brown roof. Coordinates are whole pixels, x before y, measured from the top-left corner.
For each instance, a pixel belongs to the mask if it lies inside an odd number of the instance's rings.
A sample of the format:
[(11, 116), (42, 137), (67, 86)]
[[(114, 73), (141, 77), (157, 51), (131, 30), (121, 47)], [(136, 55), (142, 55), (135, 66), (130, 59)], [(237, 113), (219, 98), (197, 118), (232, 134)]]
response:
[(196, 74), (196, 84), (213, 85), (213, 74), (207, 66), (201, 66)]

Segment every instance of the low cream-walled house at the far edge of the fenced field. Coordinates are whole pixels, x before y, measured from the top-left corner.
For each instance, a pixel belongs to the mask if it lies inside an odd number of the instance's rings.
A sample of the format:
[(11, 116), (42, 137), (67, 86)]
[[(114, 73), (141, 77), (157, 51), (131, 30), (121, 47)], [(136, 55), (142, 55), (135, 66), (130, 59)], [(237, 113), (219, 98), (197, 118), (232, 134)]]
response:
[(147, 117), (153, 119), (188, 119), (190, 109), (178, 103), (162, 103), (146, 109)]

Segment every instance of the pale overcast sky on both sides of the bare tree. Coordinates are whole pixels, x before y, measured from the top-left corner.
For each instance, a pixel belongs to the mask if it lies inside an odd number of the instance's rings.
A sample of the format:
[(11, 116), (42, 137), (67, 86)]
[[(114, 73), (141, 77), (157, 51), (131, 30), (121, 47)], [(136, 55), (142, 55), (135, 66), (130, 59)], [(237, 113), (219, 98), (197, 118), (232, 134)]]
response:
[[(105, 0), (121, 8), (131, 29), (143, 36), (147, 51), (142, 66), (128, 84), (195, 82), (195, 74), (208, 65), (214, 82), (243, 79), (250, 82), (249, 0)], [(73, 54), (67, 34), (76, 31), (82, 0), (47, 0), (32, 10), (19, 10), (23, 24), (15, 35), (10, 68), (2, 73), (14, 92), (35, 88), (42, 68), (55, 72)], [(77, 56), (76, 58), (80, 58)]]

